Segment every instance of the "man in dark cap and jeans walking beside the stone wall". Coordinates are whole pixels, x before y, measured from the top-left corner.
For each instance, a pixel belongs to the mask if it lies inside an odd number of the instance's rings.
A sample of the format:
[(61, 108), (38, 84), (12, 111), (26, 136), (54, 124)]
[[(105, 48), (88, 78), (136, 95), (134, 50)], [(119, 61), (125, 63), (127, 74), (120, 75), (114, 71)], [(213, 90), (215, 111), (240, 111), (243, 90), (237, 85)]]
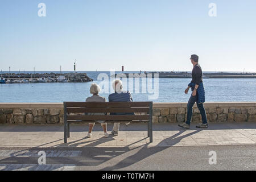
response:
[(190, 88), (192, 90), (192, 94), (191, 94), (191, 97), (189, 98), (188, 105), (187, 105), (187, 121), (179, 126), (185, 129), (190, 128), (193, 105), (196, 102), (196, 105), (200, 110), (200, 114), (203, 120), (203, 124), (197, 125), (196, 127), (207, 128), (208, 127), (207, 116), (206, 116), (204, 105), (203, 105), (203, 103), (205, 102), (203, 72), (200, 65), (198, 64), (199, 56), (191, 55), (190, 60), (191, 60), (191, 63), (193, 64), (192, 81), (188, 84), (188, 88), (185, 89), (185, 94), (188, 93), (188, 90)]

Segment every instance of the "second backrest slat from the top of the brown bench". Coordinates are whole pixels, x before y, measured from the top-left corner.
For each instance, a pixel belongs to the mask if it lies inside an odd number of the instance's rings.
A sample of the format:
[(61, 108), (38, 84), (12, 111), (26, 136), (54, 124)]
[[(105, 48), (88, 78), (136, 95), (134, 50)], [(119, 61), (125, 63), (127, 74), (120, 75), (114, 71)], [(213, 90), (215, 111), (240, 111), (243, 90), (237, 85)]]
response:
[(148, 113), (149, 107), (68, 107), (68, 113)]

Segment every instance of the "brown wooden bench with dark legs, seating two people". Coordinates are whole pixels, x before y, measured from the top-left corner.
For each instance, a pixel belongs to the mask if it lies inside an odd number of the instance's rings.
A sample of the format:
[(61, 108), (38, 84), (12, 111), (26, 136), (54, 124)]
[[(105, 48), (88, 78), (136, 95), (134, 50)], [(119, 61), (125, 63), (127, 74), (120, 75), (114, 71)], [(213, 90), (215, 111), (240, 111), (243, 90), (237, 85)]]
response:
[[(108, 113), (85, 115), (83, 113)], [(146, 113), (143, 115), (110, 115), (109, 113)], [(147, 137), (152, 136), (152, 102), (64, 102), (64, 143), (70, 136), (69, 123), (96, 122), (147, 122)]]

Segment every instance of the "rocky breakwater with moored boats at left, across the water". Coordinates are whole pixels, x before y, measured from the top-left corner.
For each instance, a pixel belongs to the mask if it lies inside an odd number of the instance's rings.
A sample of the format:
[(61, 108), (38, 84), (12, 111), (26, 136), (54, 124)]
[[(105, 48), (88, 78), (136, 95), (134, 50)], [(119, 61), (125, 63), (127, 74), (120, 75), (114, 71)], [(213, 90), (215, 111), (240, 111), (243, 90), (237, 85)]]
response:
[(3, 73), (5, 83), (21, 82), (89, 82), (93, 81), (86, 73)]

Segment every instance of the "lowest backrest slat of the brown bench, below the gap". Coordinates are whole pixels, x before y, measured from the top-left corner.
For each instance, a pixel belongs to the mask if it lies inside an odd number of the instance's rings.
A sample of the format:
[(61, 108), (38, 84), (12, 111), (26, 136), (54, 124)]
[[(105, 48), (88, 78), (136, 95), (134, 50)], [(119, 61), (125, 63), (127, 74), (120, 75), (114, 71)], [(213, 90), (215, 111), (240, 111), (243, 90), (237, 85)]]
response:
[(150, 115), (67, 115), (67, 120), (81, 121), (131, 121), (149, 120)]

